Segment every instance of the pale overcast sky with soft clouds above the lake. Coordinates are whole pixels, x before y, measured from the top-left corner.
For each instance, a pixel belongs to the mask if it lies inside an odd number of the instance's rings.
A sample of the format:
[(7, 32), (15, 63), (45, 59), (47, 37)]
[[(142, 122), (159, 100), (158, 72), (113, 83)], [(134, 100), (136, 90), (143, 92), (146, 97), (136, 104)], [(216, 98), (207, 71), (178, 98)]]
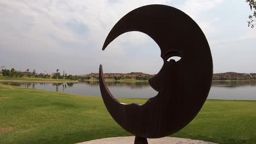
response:
[(166, 4), (192, 17), (210, 44), (214, 73), (256, 73), (256, 28), (248, 28), (251, 10), (234, 0), (0, 0), (0, 65), (38, 73), (68, 74), (142, 71), (156, 74), (160, 49), (146, 34), (120, 35), (105, 51), (110, 29), (129, 11)]

